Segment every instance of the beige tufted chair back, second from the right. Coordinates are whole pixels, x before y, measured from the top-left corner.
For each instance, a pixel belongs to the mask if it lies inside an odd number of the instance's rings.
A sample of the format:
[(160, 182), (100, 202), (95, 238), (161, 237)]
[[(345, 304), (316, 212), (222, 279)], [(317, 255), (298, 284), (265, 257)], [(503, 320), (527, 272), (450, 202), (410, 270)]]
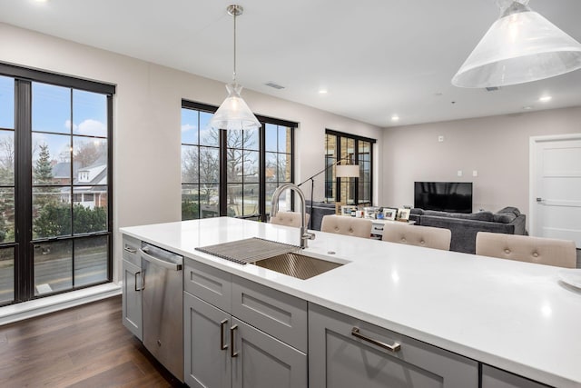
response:
[(404, 223), (385, 224), (381, 240), (390, 243), (425, 246), (449, 251), (452, 232), (434, 226), (410, 225)]

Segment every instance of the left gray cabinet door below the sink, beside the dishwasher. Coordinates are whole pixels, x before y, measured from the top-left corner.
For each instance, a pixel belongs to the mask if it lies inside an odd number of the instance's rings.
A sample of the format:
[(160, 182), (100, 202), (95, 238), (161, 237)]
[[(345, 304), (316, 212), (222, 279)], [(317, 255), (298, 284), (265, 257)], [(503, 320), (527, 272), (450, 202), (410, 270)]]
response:
[(191, 388), (230, 388), (231, 316), (183, 293), (185, 383)]

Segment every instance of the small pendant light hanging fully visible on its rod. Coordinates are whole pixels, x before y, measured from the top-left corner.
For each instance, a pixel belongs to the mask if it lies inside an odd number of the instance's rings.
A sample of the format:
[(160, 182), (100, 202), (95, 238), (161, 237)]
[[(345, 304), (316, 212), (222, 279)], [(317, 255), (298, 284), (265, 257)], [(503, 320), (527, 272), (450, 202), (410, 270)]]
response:
[(234, 71), (231, 84), (226, 85), (228, 97), (212, 116), (209, 125), (214, 129), (257, 129), (261, 122), (242, 99), (242, 86), (236, 82), (236, 17), (242, 15), (244, 9), (241, 5), (228, 5), (226, 10), (234, 18)]

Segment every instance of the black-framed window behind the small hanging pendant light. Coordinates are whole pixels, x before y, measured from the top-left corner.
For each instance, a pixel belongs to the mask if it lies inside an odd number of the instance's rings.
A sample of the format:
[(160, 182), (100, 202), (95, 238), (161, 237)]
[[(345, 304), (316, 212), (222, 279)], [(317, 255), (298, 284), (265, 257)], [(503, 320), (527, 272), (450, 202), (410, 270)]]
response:
[(266, 221), (279, 184), (292, 182), (293, 129), (259, 116), (257, 130), (208, 127), (216, 108), (182, 101), (182, 220), (229, 215)]

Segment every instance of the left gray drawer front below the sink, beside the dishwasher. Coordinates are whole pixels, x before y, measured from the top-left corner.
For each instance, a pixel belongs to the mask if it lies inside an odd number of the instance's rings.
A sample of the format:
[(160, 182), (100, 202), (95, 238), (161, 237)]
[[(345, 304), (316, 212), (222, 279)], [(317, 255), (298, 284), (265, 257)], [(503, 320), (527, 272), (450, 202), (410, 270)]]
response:
[(183, 289), (223, 311), (231, 312), (231, 274), (185, 258)]

